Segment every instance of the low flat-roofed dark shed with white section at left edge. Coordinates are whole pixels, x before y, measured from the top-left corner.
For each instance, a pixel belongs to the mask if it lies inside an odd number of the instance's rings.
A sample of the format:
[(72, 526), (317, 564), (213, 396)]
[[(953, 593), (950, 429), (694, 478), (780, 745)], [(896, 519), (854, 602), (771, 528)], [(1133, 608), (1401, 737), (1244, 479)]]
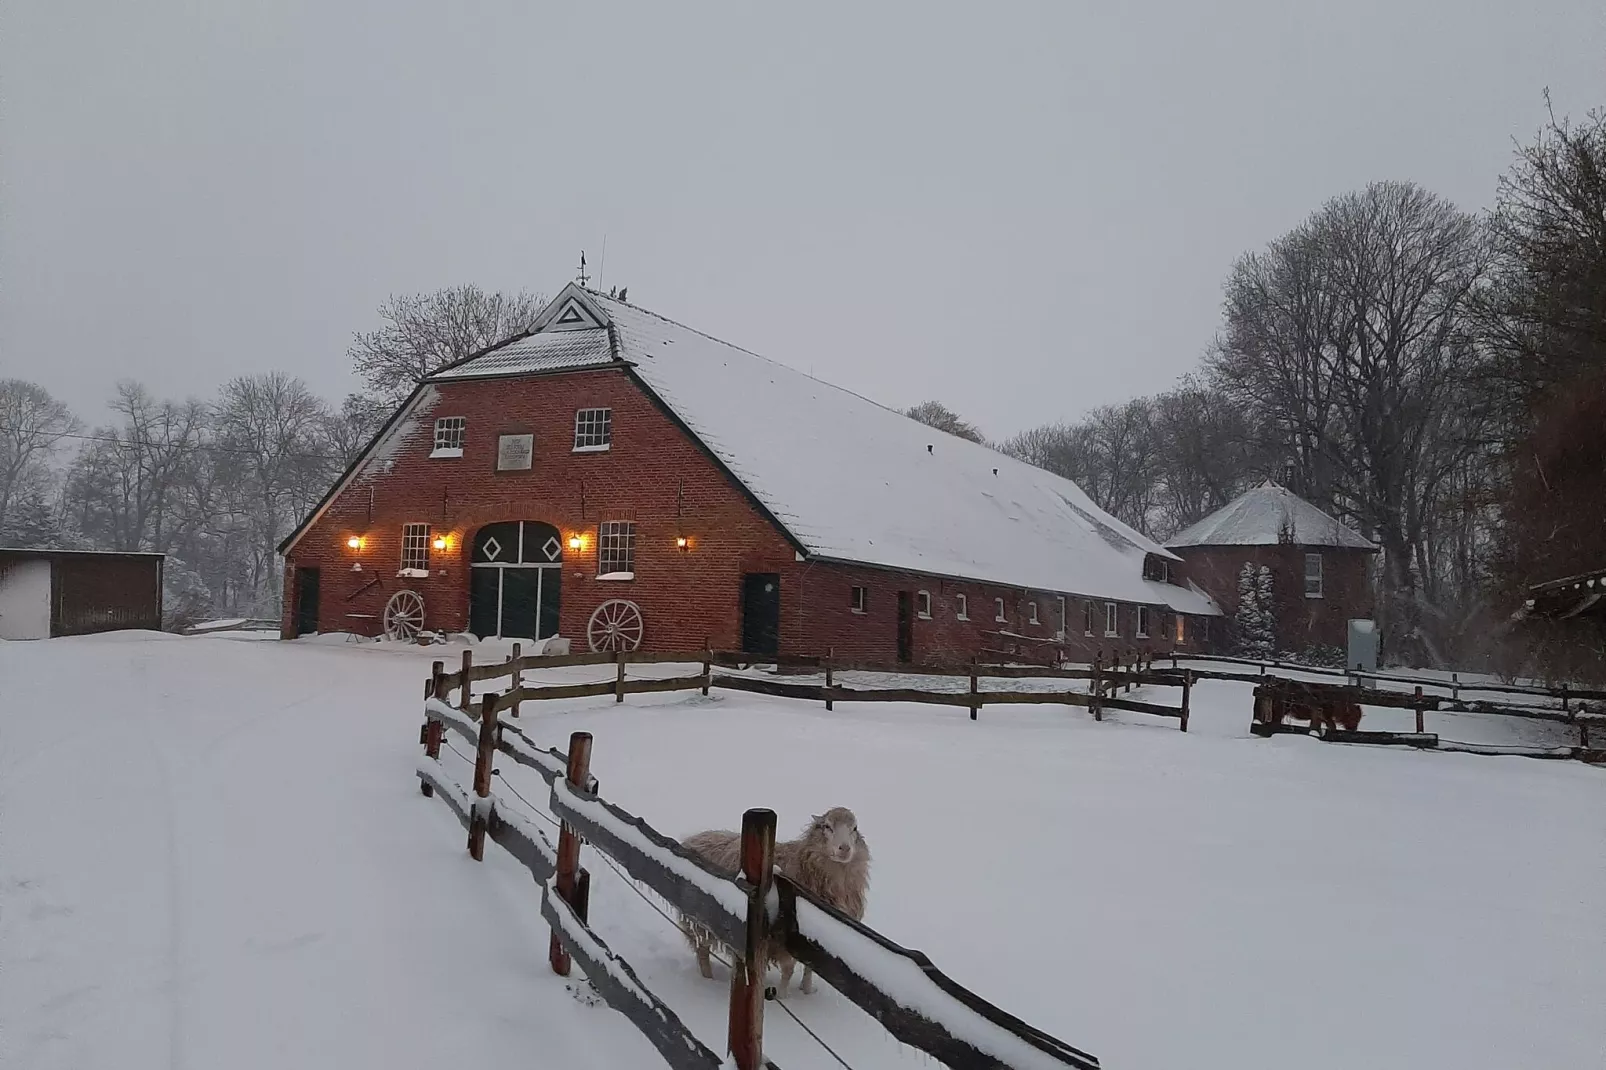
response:
[(164, 554), (0, 548), (0, 639), (162, 627)]

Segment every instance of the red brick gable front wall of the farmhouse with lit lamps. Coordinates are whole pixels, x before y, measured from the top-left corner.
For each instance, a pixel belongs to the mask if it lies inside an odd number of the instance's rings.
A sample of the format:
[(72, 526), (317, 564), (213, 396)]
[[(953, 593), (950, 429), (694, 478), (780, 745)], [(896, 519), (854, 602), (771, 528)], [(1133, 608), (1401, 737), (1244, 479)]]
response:
[[(613, 410), (612, 448), (575, 453), (575, 411), (593, 406)], [(461, 458), (430, 459), (437, 416), (467, 418)], [(304, 567), (321, 569), (324, 631), (377, 633), (385, 601), (403, 586), (424, 596), (426, 627), (463, 631), (474, 533), (496, 521), (544, 521), (565, 543), (585, 538), (578, 553), (564, 549), (559, 623), (580, 644), (591, 612), (626, 598), (642, 611), (650, 647), (736, 646), (742, 574), (793, 566), (790, 543), (623, 371), (442, 384), (411, 423), (390, 471), (353, 480), (287, 554), (286, 635)], [(535, 435), (528, 471), (496, 471), (501, 434)], [(601, 521), (636, 524), (634, 580), (596, 578)], [(448, 538), (443, 553), (430, 549), (427, 578), (397, 577), (410, 522)], [(352, 535), (363, 540), (357, 553), (345, 545)]]

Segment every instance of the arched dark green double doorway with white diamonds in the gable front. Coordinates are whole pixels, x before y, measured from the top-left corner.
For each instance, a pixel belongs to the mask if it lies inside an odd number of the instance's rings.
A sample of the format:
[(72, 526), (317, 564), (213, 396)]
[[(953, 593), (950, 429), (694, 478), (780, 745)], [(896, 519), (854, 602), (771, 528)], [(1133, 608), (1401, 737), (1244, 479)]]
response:
[(557, 635), (564, 540), (540, 521), (487, 524), (469, 559), (469, 631), (544, 639)]

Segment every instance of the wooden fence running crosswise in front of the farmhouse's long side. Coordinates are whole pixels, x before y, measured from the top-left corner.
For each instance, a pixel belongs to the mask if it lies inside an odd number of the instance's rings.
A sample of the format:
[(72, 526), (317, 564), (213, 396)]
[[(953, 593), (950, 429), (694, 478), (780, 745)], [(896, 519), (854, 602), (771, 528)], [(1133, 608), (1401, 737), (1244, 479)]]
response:
[[(660, 680), (630, 680), (625, 675), (628, 665), (686, 665), (702, 664), (702, 672), (691, 676), (668, 676)], [(528, 688), (524, 684), (524, 673), (541, 668), (562, 668), (569, 665), (613, 665), (612, 681), (577, 683), (577, 684), (543, 684)], [(822, 673), (822, 684), (790, 683), (782, 680), (756, 680), (753, 676), (734, 676), (715, 673), (715, 668), (748, 668), (752, 665), (774, 665), (782, 672)], [(824, 657), (756, 657), (734, 654), (728, 651), (699, 651), (692, 654), (642, 654), (638, 651), (620, 651), (617, 654), (560, 654), (520, 655), (519, 644), (514, 644), (512, 657), (504, 662), (474, 664), (474, 652), (463, 651), (463, 668), (454, 673), (443, 672), (443, 662), (435, 662), (435, 672), (427, 684), (429, 694), (437, 694), (448, 700), (456, 691), (456, 705), (469, 712), (474, 702), (474, 684), (507, 678), (506, 691), (496, 696), (496, 712), (509, 712), (519, 717), (519, 709), (525, 702), (543, 699), (583, 699), (612, 694), (617, 702), (623, 702), (628, 694), (646, 694), (660, 691), (702, 691), (708, 694), (711, 688), (728, 691), (747, 691), (750, 694), (768, 694), (784, 699), (805, 699), (824, 702), (830, 710), (837, 702), (915, 702), (927, 705), (954, 705), (970, 710), (970, 720), (976, 720), (984, 705), (1012, 704), (1054, 704), (1086, 707), (1094, 720), (1103, 720), (1105, 710), (1126, 710), (1131, 713), (1148, 713), (1153, 717), (1174, 718), (1182, 731), (1188, 729), (1188, 705), (1193, 680), (1198, 676), (1192, 668), (1174, 672), (1156, 672), (1152, 660), (1143, 660), (1140, 654), (1131, 654), (1129, 660), (1119, 657), (1110, 665), (1102, 655), (1089, 668), (1036, 667), (1036, 665), (991, 665), (968, 662), (960, 665), (888, 665), (885, 662), (838, 662), (829, 654)], [(967, 678), (968, 691), (925, 691), (920, 688), (845, 688), (835, 681), (837, 673), (888, 673), (901, 676), (951, 676)], [(983, 691), (983, 680), (1086, 680), (1087, 691)], [(1123, 699), (1119, 692), (1137, 686), (1179, 688), (1182, 699), (1179, 705), (1161, 702), (1143, 702), (1139, 699)]]

